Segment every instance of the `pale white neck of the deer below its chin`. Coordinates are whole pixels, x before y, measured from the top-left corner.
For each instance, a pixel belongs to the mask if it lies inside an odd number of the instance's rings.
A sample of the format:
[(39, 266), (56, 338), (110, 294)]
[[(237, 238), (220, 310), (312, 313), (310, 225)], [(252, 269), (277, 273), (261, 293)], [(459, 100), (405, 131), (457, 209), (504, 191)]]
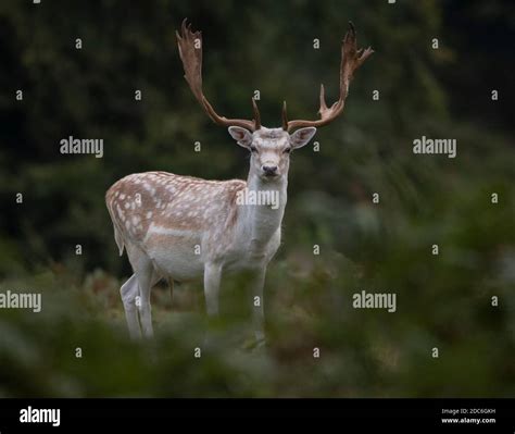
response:
[[(244, 237), (251, 246), (265, 248), (276, 234), (285, 215), (288, 178), (286, 174), (273, 181), (264, 181), (249, 173), (247, 178), (248, 202), (240, 213)], [(255, 198), (255, 203), (252, 201)]]

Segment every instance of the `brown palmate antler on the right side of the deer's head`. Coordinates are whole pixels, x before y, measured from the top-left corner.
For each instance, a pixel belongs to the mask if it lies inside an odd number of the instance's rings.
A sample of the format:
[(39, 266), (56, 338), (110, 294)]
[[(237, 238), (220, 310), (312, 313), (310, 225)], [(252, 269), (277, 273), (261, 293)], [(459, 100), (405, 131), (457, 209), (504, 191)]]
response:
[(282, 106), (282, 129), (290, 131), (303, 126), (318, 127), (327, 125), (335, 120), (343, 111), (346, 98), (349, 94), (349, 84), (354, 71), (356, 71), (373, 52), (374, 50), (370, 47), (364, 51), (363, 48), (357, 50), (355, 28), (354, 25), (349, 22), (349, 32), (347, 32), (341, 45), (340, 98), (330, 108), (327, 108), (324, 85), (321, 85), (321, 108), (318, 110), (321, 119), (318, 121), (288, 121), (285, 101)]

